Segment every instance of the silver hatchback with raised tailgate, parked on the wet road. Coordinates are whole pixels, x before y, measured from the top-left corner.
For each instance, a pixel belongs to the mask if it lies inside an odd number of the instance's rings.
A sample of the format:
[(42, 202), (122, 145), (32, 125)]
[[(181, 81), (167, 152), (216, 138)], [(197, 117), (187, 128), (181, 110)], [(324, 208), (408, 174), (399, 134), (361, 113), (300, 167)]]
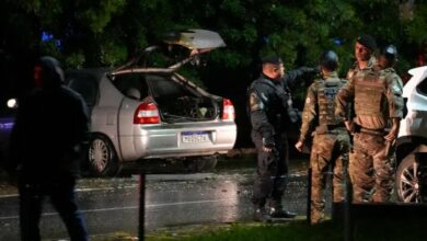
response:
[[(188, 55), (163, 68), (141, 66), (138, 58), (117, 69), (67, 71), (67, 84), (90, 107), (88, 163), (94, 174), (115, 175), (123, 165), (150, 160), (183, 162), (199, 171), (214, 168), (215, 157), (233, 148), (236, 125), (231, 101), (177, 73), (200, 55), (224, 46), (223, 41), (215, 32), (189, 30), (164, 43), (184, 47)], [(140, 56), (147, 58), (159, 48), (146, 48)]]

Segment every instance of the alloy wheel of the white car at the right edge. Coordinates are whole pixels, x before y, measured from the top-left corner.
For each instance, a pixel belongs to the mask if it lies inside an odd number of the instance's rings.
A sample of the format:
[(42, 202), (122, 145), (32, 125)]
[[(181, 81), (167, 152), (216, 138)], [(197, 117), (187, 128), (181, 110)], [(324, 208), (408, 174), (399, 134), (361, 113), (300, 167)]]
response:
[(420, 203), (420, 182), (418, 180), (418, 163), (415, 154), (406, 156), (396, 171), (396, 192), (403, 203)]

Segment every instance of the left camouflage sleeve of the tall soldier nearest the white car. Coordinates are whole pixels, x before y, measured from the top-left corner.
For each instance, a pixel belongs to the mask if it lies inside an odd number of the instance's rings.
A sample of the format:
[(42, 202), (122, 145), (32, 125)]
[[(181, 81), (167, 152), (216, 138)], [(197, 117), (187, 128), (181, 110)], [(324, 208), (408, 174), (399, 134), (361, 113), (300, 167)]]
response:
[(335, 99), (335, 115), (348, 119), (350, 104), (355, 99), (355, 79), (351, 78), (348, 82), (338, 91)]

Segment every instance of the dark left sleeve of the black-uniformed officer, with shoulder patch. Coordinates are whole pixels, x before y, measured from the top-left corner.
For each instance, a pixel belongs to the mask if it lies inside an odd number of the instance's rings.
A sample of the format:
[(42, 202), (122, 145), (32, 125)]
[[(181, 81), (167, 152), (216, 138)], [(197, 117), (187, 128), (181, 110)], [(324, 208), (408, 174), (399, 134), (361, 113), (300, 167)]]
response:
[[(264, 96), (263, 96), (264, 95)], [(252, 128), (261, 133), (266, 139), (273, 138), (275, 130), (268, 122), (265, 104), (263, 102), (265, 93), (262, 91), (252, 90), (249, 92), (249, 111), (251, 116)]]

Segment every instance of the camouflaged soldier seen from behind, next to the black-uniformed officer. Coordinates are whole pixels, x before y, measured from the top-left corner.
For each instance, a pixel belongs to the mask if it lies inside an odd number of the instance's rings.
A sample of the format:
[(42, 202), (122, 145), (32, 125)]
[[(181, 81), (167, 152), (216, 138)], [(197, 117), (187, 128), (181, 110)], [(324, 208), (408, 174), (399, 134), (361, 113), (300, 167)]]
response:
[(311, 176), (311, 220), (312, 225), (322, 221), (325, 200), (323, 193), (326, 185), (325, 172), (333, 167), (333, 200), (344, 200), (343, 162), (348, 159), (349, 135), (343, 117), (335, 115), (335, 95), (346, 83), (337, 72), (338, 56), (327, 50), (320, 57), (321, 78), (309, 87), (302, 112), (301, 134), (296, 148), (302, 151), (309, 146), (312, 136), (310, 154)]

